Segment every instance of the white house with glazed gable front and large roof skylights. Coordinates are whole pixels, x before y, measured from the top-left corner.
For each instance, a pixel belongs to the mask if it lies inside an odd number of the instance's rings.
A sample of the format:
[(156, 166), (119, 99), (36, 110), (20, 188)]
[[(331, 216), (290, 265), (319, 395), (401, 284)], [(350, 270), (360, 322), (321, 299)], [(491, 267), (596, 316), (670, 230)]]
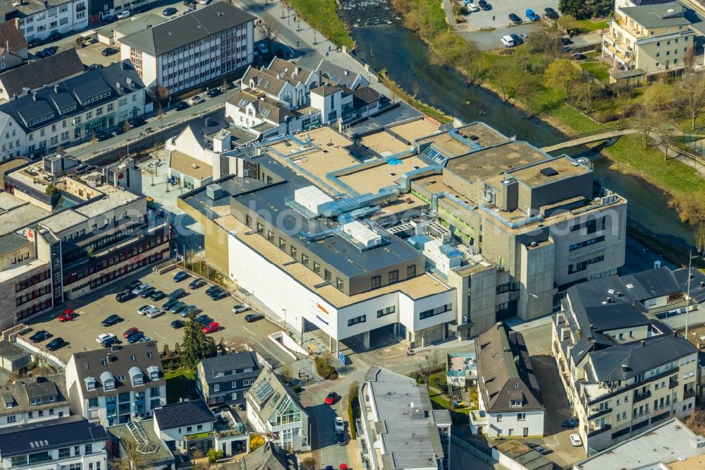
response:
[(309, 418), (299, 397), (269, 366), (245, 393), (247, 423), (257, 433), (271, 435), (271, 442), (288, 450), (311, 449)]

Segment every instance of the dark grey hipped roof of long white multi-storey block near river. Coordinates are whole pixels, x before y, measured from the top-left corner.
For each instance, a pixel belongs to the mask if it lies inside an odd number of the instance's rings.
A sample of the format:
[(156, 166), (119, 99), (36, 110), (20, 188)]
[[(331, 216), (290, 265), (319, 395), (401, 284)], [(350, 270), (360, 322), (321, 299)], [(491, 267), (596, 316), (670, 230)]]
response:
[(217, 2), (119, 39), (150, 56), (161, 56), (221, 31), (255, 20), (255, 16), (227, 2)]

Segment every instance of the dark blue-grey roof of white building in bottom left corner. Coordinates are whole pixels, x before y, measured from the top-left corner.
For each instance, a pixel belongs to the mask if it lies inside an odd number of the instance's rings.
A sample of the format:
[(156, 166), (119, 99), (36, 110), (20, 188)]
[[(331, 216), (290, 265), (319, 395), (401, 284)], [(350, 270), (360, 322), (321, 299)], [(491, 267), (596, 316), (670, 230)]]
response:
[(0, 458), (100, 442), (106, 438), (103, 426), (89, 423), (78, 415), (12, 426), (0, 429)]

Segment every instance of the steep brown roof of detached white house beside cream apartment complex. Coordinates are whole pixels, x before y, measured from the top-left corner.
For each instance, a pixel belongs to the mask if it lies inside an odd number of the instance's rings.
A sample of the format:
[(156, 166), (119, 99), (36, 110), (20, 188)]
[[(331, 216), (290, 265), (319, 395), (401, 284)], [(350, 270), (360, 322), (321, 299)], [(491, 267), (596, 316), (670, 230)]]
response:
[[(478, 392), (486, 411), (537, 411), (543, 410), (539, 382), (529, 361), (524, 337), (520, 332), (509, 331), (496, 325), (475, 340), (477, 375), (482, 376)], [(517, 360), (515, 360), (517, 358)], [(521, 400), (521, 408), (511, 407), (510, 400)]]

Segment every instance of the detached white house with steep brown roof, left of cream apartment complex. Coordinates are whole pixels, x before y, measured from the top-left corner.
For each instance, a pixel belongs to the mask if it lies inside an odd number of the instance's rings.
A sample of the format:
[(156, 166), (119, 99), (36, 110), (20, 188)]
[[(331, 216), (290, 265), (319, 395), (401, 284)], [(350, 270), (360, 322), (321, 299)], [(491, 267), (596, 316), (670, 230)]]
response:
[(543, 437), (546, 409), (522, 334), (497, 323), (475, 339), (475, 355), (479, 411), (470, 416), (472, 431)]

